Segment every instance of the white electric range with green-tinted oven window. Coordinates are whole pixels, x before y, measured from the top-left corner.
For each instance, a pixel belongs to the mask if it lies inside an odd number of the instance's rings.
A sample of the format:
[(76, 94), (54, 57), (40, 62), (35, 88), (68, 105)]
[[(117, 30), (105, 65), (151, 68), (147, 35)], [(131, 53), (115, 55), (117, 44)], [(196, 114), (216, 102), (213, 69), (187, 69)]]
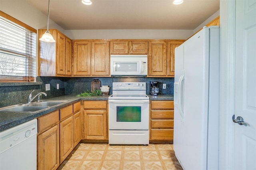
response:
[(149, 144), (145, 82), (114, 82), (108, 97), (109, 144)]

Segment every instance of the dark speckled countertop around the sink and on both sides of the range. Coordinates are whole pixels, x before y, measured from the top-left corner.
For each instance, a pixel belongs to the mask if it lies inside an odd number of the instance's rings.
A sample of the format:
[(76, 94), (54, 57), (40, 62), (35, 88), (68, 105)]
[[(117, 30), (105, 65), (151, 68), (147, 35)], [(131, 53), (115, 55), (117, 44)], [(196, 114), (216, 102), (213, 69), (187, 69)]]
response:
[[(0, 131), (6, 130), (8, 128), (14, 127), (16, 125), (19, 125), (21, 123), (30, 121), (32, 119), (36, 119), (37, 117), (40, 117), (42, 115), (46, 115), (52, 111), (61, 109), (63, 107), (66, 107), (68, 105), (71, 105), (73, 103), (76, 103), (81, 100), (108, 100), (108, 96), (90, 96), (90, 97), (77, 97), (76, 95), (62, 95), (58, 97), (52, 97), (45, 100), (58, 100), (58, 101), (67, 101), (52, 107), (48, 107), (46, 109), (43, 109), (41, 111), (37, 112), (1, 112), (0, 113)], [(173, 95), (157, 95), (152, 96), (148, 95), (150, 100), (173, 100)]]

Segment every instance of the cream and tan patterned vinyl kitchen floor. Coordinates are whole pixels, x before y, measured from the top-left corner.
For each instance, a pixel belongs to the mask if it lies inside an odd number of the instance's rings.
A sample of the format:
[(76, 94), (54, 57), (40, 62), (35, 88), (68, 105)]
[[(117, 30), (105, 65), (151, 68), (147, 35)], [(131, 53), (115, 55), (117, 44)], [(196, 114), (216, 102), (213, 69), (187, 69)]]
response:
[(58, 170), (182, 170), (172, 144), (80, 143)]

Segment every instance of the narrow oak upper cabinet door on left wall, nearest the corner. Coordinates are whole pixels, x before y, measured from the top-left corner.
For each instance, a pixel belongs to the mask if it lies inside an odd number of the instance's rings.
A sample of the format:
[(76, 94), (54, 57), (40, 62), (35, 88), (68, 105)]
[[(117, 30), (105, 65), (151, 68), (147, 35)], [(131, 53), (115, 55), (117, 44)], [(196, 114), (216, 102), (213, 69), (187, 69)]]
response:
[(66, 37), (66, 75), (72, 75), (72, 40)]

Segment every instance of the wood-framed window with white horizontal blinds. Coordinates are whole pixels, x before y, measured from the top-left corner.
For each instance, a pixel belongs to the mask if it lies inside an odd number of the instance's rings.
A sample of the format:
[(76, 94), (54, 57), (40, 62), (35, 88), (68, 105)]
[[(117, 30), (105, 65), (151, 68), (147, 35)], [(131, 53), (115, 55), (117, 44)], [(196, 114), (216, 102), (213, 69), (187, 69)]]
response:
[(36, 30), (0, 11), (0, 82), (33, 82)]

